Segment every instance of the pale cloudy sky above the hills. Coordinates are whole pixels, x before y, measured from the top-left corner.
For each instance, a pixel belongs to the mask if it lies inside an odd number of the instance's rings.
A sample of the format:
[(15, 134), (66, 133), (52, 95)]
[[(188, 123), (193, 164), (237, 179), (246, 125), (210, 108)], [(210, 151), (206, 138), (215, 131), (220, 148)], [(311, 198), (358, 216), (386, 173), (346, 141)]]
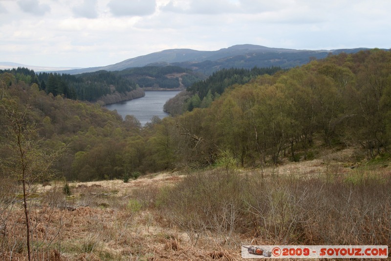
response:
[(239, 44), (391, 48), (391, 0), (0, 0), (0, 62), (97, 67)]

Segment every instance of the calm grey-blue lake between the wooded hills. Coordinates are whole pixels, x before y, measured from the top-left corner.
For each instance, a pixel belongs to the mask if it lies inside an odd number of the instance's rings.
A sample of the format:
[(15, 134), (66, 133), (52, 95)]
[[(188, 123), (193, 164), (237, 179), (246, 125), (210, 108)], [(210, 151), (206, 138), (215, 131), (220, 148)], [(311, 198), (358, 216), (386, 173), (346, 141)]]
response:
[(106, 105), (109, 110), (117, 110), (118, 114), (125, 119), (127, 115), (133, 115), (145, 125), (151, 121), (153, 116), (160, 119), (168, 116), (163, 112), (163, 105), (167, 100), (177, 95), (180, 91), (149, 91), (145, 92), (145, 96), (133, 100), (123, 101)]

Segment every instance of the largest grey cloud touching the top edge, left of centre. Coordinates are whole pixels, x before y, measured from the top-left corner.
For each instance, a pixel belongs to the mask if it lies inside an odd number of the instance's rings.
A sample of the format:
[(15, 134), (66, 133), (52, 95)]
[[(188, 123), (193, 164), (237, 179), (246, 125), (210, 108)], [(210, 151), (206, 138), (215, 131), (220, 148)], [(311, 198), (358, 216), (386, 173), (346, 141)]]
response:
[(146, 16), (155, 12), (156, 0), (111, 0), (108, 6), (114, 16)]

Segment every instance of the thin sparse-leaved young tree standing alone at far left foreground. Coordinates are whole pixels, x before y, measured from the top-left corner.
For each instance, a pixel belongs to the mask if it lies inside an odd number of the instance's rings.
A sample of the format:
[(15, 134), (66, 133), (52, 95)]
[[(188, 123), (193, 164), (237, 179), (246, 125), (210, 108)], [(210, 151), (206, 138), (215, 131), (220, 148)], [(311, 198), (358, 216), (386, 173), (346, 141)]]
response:
[(31, 189), (34, 183), (52, 177), (52, 166), (63, 155), (65, 147), (57, 151), (44, 149), (43, 139), (38, 135), (36, 124), (28, 119), (28, 108), (23, 108), (18, 100), (3, 98), (0, 109), (4, 121), (2, 127), (7, 138), (5, 147), (8, 149), (8, 157), (0, 161), (0, 166), (11, 179), (22, 184), (27, 253), (28, 260), (31, 260)]

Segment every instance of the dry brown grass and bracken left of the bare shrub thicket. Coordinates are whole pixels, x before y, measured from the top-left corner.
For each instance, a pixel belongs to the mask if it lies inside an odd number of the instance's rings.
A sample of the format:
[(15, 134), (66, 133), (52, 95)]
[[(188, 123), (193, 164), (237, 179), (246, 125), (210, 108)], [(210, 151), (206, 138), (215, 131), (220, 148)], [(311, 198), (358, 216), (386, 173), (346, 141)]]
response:
[[(204, 240), (204, 248), (192, 247), (182, 231), (162, 225), (164, 217), (154, 207), (159, 188), (171, 187), (182, 178), (161, 173), (129, 183), (119, 180), (72, 183), (72, 195), (66, 198), (66, 204), (61, 187), (39, 188), (41, 200), (31, 206), (35, 213), (33, 234), (34, 241), (44, 242), (36, 251), (36, 258), (61, 261), (210, 259), (213, 246), (206, 246)], [(72, 206), (74, 210), (65, 206)], [(12, 230), (7, 228), (9, 248), (4, 247), (1, 260), (26, 260), (25, 224), (20, 204), (14, 204), (7, 223), (12, 224)], [(238, 251), (235, 253), (239, 255)], [(226, 252), (225, 258), (229, 255), (234, 254)]]

